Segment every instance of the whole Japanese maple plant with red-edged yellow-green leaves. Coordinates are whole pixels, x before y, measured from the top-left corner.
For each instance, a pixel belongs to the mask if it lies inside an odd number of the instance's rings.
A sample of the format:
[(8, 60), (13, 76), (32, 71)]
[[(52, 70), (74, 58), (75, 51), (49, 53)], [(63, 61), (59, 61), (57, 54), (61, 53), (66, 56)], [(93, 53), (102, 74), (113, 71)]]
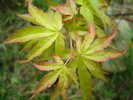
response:
[[(47, 0), (47, 12), (28, 2), (29, 14), (17, 14), (36, 26), (17, 30), (4, 43), (21, 43), (21, 52), (29, 51), (20, 63), (31, 62), (39, 71), (48, 71), (36, 87), (34, 96), (56, 84), (51, 100), (59, 95), (67, 100), (66, 90), (72, 82), (80, 87), (83, 100), (92, 95), (91, 75), (107, 82), (105, 71), (98, 62), (123, 55), (114, 49), (112, 39), (116, 25), (105, 15), (106, 0), (65, 0), (64, 4)], [(110, 26), (114, 32), (106, 35), (103, 29)], [(107, 47), (112, 50), (105, 50)], [(114, 49), (114, 50), (113, 50)], [(35, 58), (35, 59), (34, 59)]]

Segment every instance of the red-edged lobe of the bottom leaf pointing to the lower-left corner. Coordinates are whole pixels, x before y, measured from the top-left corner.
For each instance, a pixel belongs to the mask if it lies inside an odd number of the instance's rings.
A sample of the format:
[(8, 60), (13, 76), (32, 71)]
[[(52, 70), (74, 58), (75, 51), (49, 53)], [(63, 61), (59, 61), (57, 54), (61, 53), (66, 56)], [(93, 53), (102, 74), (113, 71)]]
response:
[(62, 69), (58, 69), (54, 72), (50, 72), (48, 74), (46, 74), (39, 82), (39, 85), (37, 86), (34, 94), (30, 97), (30, 99), (34, 98), (34, 96), (45, 90), (46, 88), (50, 88), (54, 82), (57, 80), (57, 78), (59, 77), (60, 73), (61, 73)]

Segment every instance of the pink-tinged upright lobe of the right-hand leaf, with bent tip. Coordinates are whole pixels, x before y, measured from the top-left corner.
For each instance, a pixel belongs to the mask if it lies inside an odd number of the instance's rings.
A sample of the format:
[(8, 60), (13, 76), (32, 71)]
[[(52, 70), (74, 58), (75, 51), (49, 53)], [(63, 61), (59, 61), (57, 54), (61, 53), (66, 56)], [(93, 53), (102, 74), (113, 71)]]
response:
[(94, 41), (96, 36), (96, 31), (92, 23), (88, 22), (89, 31), (85, 34), (85, 39), (83, 40), (83, 50), (86, 51), (91, 43)]

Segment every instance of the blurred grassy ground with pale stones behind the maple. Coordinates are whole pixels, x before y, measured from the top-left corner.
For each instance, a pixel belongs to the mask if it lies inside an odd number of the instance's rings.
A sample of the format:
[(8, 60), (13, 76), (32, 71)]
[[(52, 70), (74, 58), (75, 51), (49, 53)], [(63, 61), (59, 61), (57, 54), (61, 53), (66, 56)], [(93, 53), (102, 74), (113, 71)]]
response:
[[(64, 0), (54, 0), (63, 3)], [(44, 0), (34, 0), (34, 5), (47, 9)], [(16, 60), (24, 58), (19, 53), (19, 44), (3, 44), (3, 40), (15, 30), (31, 26), (16, 14), (27, 13), (24, 0), (0, 1), (0, 100), (28, 100), (38, 81), (45, 72), (34, 77), (36, 69), (30, 64), (19, 64)], [(128, 52), (120, 58), (101, 63), (109, 75), (108, 84), (93, 78), (92, 100), (133, 100), (133, 0), (112, 0), (107, 15), (118, 25), (119, 32), (113, 44), (119, 49), (129, 45)], [(106, 33), (110, 34), (110, 28)], [(38, 94), (33, 100), (50, 100), (52, 89)], [(82, 100), (81, 91), (74, 84), (68, 89), (69, 100)], [(58, 100), (62, 100), (59, 98)]]

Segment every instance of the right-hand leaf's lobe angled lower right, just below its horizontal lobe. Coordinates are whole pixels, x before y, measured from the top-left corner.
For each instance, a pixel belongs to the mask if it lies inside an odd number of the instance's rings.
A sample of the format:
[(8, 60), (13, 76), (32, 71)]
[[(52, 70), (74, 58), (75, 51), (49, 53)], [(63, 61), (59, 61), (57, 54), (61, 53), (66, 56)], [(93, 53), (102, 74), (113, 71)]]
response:
[(93, 70), (96, 71), (97, 73), (103, 73), (103, 74), (107, 74), (105, 71), (102, 70), (102, 68), (100, 68), (99, 66), (97, 66), (94, 62), (90, 61), (89, 59), (86, 59), (84, 57), (82, 57), (84, 64), (86, 65), (86, 67), (89, 70)]

